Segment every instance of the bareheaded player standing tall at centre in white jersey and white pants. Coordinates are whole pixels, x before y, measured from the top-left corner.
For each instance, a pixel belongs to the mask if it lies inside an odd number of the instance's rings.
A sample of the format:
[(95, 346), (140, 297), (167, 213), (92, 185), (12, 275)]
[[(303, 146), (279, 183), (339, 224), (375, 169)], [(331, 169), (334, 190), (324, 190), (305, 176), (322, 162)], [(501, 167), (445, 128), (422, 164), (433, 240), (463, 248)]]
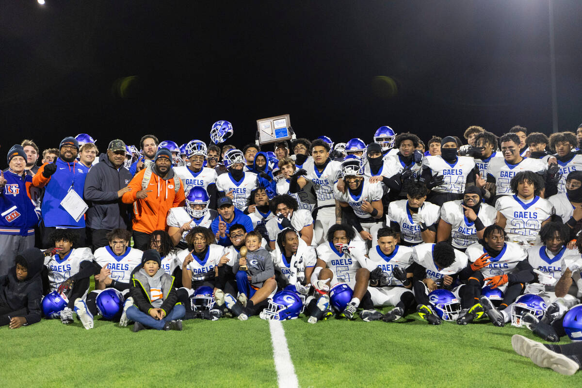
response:
[[(333, 185), (341, 175), (342, 163), (329, 159), (329, 144), (321, 139), (311, 143), (311, 155), (313, 162), (303, 163), (306, 170), (306, 179), (311, 180), (317, 195), (317, 208), (314, 212), (314, 240), (315, 244), (321, 244), (325, 239), (325, 233), (336, 220), (340, 218), (339, 209), (336, 214), (336, 200), (333, 197)], [(337, 205), (339, 208), (339, 205)]]

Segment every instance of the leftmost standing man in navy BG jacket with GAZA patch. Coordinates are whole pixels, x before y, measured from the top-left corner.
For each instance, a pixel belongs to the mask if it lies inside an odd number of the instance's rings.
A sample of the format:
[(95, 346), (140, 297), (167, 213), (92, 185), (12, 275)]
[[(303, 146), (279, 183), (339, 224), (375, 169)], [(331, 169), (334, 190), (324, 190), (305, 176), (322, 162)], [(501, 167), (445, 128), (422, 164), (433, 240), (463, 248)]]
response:
[(33, 178), (24, 166), (26, 153), (15, 144), (8, 151), (8, 169), (0, 172), (0, 276), (14, 266), (17, 254), (34, 247), (39, 215), (30, 196)]

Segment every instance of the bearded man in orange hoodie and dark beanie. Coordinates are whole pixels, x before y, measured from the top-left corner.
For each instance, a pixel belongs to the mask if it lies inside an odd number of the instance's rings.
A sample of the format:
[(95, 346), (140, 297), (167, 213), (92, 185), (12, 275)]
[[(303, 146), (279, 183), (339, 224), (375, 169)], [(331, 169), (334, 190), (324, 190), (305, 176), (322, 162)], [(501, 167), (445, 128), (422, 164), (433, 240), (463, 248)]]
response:
[[(147, 188), (142, 184), (148, 179)], [(176, 191), (176, 185), (179, 189)], [(150, 233), (166, 229), (168, 210), (184, 202), (184, 185), (172, 169), (172, 152), (161, 148), (155, 154), (151, 168), (137, 173), (128, 185), (131, 190), (123, 194), (122, 201), (133, 204), (133, 247), (147, 250)]]

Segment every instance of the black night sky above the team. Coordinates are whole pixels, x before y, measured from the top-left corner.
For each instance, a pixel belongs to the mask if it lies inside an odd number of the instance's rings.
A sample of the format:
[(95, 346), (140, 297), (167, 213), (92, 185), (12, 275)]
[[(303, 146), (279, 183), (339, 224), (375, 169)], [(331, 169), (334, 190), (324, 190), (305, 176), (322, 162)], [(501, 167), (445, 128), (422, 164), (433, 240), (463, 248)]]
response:
[[(46, 2), (1, 2), (4, 152), (81, 132), (101, 150), (145, 133), (208, 142), (221, 119), (242, 145), (284, 113), (335, 141), (381, 125), (425, 141), (552, 131), (548, 0)], [(576, 130), (582, 2), (552, 3), (558, 127)]]

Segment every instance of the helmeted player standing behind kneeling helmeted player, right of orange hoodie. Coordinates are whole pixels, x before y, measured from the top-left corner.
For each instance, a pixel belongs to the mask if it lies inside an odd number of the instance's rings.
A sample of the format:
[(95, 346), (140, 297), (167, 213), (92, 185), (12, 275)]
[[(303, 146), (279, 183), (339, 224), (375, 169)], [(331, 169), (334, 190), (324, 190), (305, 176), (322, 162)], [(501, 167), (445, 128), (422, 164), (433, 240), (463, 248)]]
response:
[(203, 167), (208, 156), (206, 144), (201, 140), (192, 140), (186, 145), (186, 156), (189, 166), (178, 166), (174, 169), (176, 175), (182, 179), (184, 194), (188, 195), (194, 186), (203, 187), (210, 197), (210, 208), (216, 209), (217, 172), (215, 169)]

